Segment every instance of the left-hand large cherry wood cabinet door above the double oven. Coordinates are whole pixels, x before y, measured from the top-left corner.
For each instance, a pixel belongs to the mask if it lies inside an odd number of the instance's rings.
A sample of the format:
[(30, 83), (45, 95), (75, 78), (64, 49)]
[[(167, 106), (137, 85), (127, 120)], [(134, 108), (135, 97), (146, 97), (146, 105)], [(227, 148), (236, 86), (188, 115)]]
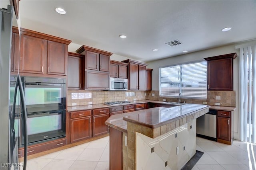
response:
[(43, 74), (47, 40), (21, 34), (20, 41), (20, 72)]

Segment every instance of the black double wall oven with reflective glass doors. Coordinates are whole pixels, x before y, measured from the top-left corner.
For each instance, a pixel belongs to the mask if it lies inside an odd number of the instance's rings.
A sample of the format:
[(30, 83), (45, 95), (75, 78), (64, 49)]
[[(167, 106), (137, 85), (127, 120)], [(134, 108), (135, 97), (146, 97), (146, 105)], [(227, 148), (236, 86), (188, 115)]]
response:
[[(21, 77), (27, 109), (28, 145), (50, 141), (66, 136), (66, 79)], [(10, 103), (13, 101), (14, 80), (11, 76)], [(16, 108), (19, 108), (19, 98)], [(18, 112), (17, 112), (18, 113)], [(22, 119), (16, 114), (16, 131), (22, 132)], [(22, 133), (20, 133), (22, 134)], [(23, 145), (20, 136), (20, 145)]]

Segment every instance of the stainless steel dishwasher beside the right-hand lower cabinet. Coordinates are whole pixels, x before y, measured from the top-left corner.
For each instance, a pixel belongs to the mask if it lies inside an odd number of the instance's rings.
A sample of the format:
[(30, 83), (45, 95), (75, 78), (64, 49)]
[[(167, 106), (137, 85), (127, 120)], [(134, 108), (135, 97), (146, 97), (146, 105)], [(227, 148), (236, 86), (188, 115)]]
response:
[(196, 136), (217, 141), (217, 111), (209, 109), (209, 112), (196, 119)]

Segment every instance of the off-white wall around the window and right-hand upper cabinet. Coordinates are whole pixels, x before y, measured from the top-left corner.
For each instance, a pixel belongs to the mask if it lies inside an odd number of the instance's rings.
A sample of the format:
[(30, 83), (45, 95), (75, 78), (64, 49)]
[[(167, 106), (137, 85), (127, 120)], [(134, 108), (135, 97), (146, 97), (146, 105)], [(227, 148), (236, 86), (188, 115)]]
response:
[[(180, 64), (180, 63), (188, 63), (192, 61), (203, 61), (206, 57), (213, 57), (217, 55), (224, 55), (229, 53), (237, 53), (238, 55), (239, 50), (235, 49), (235, 45), (226, 45), (222, 47), (217, 47), (213, 49), (207, 49), (203, 51), (198, 51), (194, 53), (188, 53), (184, 55), (179, 55), (176, 57), (169, 57), (166, 59), (161, 59), (157, 61), (148, 62), (148, 68), (152, 68), (152, 90), (158, 90), (158, 68), (161, 66), (168, 66), (173, 64)], [(236, 91), (236, 110), (234, 111), (234, 116), (232, 119), (232, 132), (234, 133), (234, 139), (239, 139), (239, 115), (238, 115), (238, 57), (234, 59), (233, 63), (233, 70), (234, 70), (234, 91)], [(221, 75), (220, 75), (221, 76)]]

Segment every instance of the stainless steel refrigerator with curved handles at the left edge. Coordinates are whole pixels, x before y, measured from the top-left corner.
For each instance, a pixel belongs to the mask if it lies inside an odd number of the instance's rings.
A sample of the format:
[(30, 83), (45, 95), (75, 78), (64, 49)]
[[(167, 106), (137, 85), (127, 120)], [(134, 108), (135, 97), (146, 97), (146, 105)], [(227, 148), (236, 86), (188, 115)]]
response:
[[(10, 87), (12, 16), (12, 6), (0, 9), (0, 169), (26, 170), (26, 105), (18, 74), (14, 76), (15, 85)], [(18, 158), (20, 133), (24, 134), (24, 162), (19, 162)]]

